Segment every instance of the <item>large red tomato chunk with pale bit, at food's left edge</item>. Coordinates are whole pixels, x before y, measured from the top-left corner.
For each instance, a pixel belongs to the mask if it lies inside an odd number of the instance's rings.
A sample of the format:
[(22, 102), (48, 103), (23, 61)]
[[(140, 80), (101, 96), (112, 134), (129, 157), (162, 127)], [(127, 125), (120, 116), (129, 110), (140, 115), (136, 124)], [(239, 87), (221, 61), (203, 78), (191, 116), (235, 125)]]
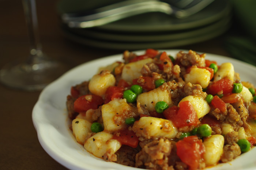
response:
[(94, 94), (87, 94), (80, 96), (74, 102), (75, 112), (86, 112), (89, 109), (97, 109), (99, 105), (103, 104), (103, 99)]

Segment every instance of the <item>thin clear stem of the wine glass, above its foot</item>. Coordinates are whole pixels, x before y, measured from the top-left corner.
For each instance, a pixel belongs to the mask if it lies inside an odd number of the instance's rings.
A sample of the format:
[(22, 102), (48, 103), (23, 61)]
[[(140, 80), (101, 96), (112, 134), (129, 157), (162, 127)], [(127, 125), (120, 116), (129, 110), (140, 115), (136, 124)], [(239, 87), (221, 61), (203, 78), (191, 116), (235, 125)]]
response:
[(22, 3), (30, 44), (30, 57), (27, 60), (27, 63), (36, 64), (38, 63), (38, 60), (43, 57), (39, 40), (36, 4), (35, 0), (22, 0)]

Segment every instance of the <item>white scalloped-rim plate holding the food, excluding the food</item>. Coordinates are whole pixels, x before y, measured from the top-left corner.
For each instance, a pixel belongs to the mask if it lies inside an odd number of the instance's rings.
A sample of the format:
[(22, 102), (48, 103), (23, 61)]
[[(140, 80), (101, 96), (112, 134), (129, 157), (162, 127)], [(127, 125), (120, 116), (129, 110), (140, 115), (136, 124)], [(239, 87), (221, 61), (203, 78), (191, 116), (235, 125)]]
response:
[[(179, 50), (166, 51), (172, 56), (176, 56)], [(136, 52), (138, 54), (144, 51)], [(68, 120), (66, 110), (66, 97), (70, 87), (84, 80), (89, 80), (97, 68), (120, 61), (122, 54), (104, 57), (84, 63), (71, 69), (59, 79), (47, 86), (39, 96), (34, 106), (32, 118), (38, 139), (44, 150), (57, 162), (71, 170), (136, 170), (133, 167), (119, 165), (113, 162), (105, 162), (100, 158), (88, 153), (82, 145), (75, 141), (72, 132), (69, 130), (70, 120)], [(232, 58), (207, 54), (206, 58), (215, 60), (218, 64), (231, 62), (235, 71), (240, 73), (242, 81), (250, 81), (256, 84), (256, 67), (243, 63)], [(223, 163), (210, 168), (210, 170), (255, 170), (256, 169), (256, 148), (242, 154), (237, 159), (229, 163)], [(137, 169), (138, 170), (138, 169)]]

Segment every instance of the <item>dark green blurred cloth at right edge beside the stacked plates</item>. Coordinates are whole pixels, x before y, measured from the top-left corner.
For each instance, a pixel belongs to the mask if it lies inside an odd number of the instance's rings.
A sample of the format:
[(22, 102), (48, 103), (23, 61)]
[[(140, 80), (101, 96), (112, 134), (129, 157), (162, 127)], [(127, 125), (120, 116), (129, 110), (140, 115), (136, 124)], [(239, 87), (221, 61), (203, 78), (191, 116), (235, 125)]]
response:
[(256, 66), (256, 0), (233, 0), (233, 7), (243, 32), (227, 37), (225, 47), (232, 57)]

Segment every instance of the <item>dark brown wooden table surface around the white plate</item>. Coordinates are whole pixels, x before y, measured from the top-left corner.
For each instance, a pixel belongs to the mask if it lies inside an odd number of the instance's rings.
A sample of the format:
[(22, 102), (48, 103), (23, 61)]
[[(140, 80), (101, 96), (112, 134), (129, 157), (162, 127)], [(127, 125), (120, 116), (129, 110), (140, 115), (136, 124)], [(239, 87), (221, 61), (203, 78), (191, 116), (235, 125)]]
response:
[[(29, 53), (27, 27), (20, 0), (0, 0), (0, 68)], [(70, 61), (70, 67), (122, 53), (123, 50), (92, 48), (71, 42), (61, 33), (56, 14), (56, 0), (37, 1), (39, 33), (43, 51), (56, 59)], [(230, 31), (233, 31), (231, 28)], [(230, 56), (223, 48), (226, 34), (209, 41), (179, 46), (206, 53)], [(0, 169), (2, 170), (64, 170), (39, 144), (31, 113), (40, 91), (27, 92), (0, 85)]]

